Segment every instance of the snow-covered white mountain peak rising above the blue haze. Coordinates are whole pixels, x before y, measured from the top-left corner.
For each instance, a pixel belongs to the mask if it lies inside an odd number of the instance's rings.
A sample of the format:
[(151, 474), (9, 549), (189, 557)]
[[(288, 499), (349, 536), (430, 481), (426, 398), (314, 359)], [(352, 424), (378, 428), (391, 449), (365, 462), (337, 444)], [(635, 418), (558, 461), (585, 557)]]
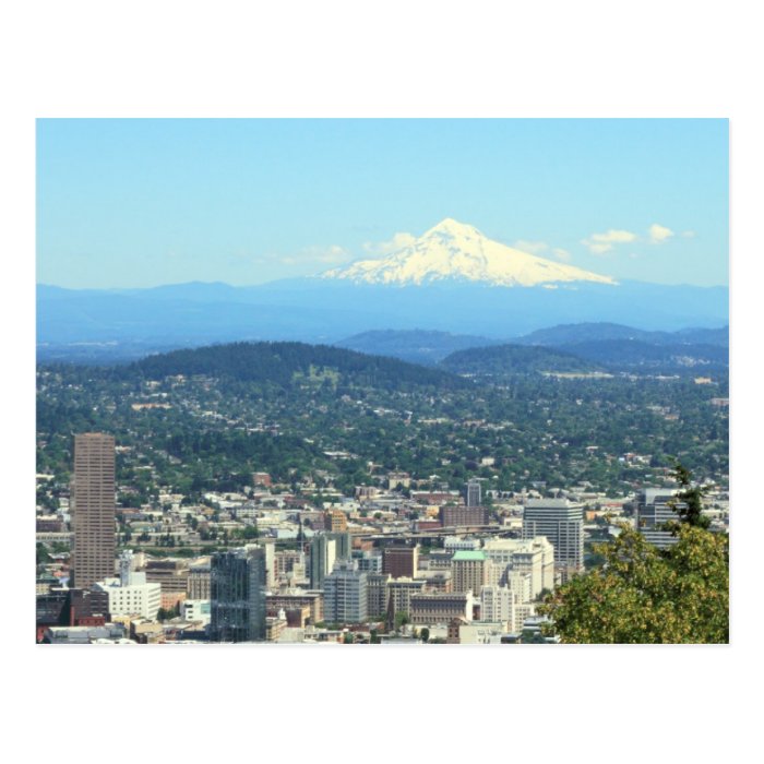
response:
[(334, 268), (322, 278), (356, 284), (421, 285), (462, 280), (493, 286), (547, 286), (561, 282), (616, 284), (609, 276), (546, 260), (492, 241), (450, 217), (397, 252)]

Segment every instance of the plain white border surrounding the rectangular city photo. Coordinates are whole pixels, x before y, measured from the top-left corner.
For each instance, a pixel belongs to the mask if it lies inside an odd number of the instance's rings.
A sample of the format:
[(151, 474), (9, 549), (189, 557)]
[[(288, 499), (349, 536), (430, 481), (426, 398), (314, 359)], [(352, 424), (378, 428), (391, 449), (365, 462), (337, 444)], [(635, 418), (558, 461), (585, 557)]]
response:
[[(3, 12), (9, 751), (63, 762), (158, 752), (711, 762), (735, 761), (753, 742), (762, 512), (747, 431), (761, 429), (759, 354), (747, 339), (759, 319), (749, 309), (761, 250), (760, 25), (743, 3), (501, 7), (75, 0)], [(731, 118), (733, 646), (330, 657), (32, 645), (23, 539), (34, 471), (33, 120), (70, 116)]]

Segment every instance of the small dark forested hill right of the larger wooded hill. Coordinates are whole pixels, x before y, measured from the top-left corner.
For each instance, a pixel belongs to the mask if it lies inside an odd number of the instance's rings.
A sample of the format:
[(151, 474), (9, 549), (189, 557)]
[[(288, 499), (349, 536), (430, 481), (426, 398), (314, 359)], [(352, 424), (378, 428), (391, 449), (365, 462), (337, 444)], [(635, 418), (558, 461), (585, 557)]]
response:
[(542, 371), (586, 373), (601, 371), (595, 361), (584, 360), (570, 353), (547, 347), (497, 345), (458, 350), (441, 365), (463, 374), (527, 374)]

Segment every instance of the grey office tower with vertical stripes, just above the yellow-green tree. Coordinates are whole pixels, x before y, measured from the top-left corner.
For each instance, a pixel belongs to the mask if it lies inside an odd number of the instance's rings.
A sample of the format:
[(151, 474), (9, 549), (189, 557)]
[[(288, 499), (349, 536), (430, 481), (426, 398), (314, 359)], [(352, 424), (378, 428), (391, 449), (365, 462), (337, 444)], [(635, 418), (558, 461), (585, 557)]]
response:
[(523, 538), (546, 536), (554, 547), (554, 566), (563, 577), (584, 570), (584, 505), (568, 499), (528, 499)]

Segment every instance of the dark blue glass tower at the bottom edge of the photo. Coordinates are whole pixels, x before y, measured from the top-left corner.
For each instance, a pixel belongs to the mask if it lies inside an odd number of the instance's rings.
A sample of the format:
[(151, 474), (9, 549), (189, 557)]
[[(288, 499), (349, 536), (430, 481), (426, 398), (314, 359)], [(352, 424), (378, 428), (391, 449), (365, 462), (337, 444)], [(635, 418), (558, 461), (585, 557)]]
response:
[(212, 556), (210, 638), (265, 640), (265, 550), (248, 545)]

